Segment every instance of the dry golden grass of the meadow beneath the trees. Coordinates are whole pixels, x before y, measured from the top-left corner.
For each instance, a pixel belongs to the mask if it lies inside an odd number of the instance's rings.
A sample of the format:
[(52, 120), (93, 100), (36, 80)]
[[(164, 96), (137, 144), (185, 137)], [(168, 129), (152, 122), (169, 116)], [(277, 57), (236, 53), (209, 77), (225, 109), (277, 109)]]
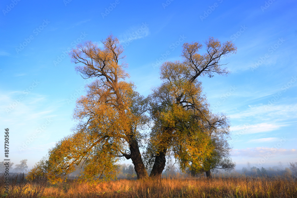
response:
[[(29, 184), (29, 189), (32, 189), (32, 185)], [(10, 193), (11, 197), (16, 194), (16, 192)], [(2, 189), (1, 194), (4, 194)], [(56, 185), (47, 184), (41, 197), (296, 198), (297, 179), (292, 177), (173, 178), (158, 181), (122, 179), (97, 185), (68, 181)]]

